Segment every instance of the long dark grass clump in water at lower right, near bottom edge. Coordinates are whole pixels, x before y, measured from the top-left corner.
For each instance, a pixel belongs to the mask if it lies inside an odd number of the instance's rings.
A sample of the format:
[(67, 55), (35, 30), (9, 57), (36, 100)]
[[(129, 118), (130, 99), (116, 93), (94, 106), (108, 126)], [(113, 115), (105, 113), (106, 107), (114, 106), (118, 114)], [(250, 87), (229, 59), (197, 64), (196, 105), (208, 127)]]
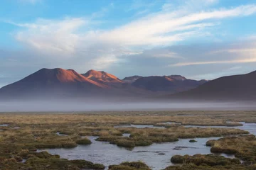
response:
[(195, 154), (193, 156), (189, 155), (174, 155), (171, 157), (171, 162), (174, 164), (195, 164), (200, 166), (206, 164), (208, 166), (226, 166), (232, 164), (241, 164), (239, 159), (230, 159), (223, 156), (216, 156), (213, 154)]

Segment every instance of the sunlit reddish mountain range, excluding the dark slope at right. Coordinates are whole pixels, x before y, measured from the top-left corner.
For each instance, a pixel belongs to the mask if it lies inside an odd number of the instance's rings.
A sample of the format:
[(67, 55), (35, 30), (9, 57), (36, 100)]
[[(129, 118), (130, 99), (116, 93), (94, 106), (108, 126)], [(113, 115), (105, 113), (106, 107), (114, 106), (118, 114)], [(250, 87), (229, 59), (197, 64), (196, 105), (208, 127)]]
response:
[(206, 83), (179, 75), (132, 76), (119, 79), (93, 69), (79, 74), (73, 69), (40, 69), (0, 89), (0, 98), (146, 97), (174, 94)]

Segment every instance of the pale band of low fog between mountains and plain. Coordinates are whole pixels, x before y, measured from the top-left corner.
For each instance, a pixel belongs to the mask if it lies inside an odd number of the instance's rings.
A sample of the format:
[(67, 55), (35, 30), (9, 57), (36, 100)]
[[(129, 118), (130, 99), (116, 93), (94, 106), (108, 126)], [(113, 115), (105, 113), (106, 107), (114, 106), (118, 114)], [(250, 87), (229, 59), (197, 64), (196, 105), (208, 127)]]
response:
[(87, 112), (87, 111), (247, 111), (255, 102), (175, 102), (175, 101), (6, 101), (1, 112)]

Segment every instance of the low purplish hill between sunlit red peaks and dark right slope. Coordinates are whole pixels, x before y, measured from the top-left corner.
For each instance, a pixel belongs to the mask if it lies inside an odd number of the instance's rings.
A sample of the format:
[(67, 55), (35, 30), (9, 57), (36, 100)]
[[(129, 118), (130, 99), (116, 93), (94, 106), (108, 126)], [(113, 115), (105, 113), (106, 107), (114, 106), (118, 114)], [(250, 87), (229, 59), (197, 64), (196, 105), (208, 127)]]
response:
[(169, 93), (176, 93), (178, 91), (193, 89), (204, 83), (206, 83), (206, 80), (196, 81), (178, 75), (171, 75), (164, 77), (141, 77), (134, 81), (132, 85), (149, 91), (168, 91)]

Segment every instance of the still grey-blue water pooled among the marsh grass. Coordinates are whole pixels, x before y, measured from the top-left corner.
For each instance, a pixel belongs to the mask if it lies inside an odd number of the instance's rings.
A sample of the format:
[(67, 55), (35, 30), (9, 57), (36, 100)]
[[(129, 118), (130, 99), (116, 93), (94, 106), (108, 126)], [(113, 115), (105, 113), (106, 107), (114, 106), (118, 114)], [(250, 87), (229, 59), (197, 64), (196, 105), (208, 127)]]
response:
[[(256, 135), (256, 123), (242, 123), (238, 126), (241, 130), (247, 130)], [(145, 125), (144, 125), (145, 126)], [(146, 125), (144, 128), (149, 128)], [(191, 126), (189, 126), (191, 127)], [(200, 127), (202, 126), (193, 126)], [(142, 128), (141, 125), (134, 125), (134, 128)], [(209, 128), (209, 126), (208, 126)], [(218, 127), (219, 128), (219, 127)], [(230, 128), (230, 127), (225, 127)], [(234, 128), (234, 127), (233, 127)], [(129, 136), (129, 134), (124, 134)], [(198, 142), (188, 142), (191, 139), (180, 139), (177, 142), (154, 143), (148, 147), (135, 147), (132, 150), (117, 145), (111, 145), (109, 142), (95, 141), (97, 137), (88, 137), (91, 145), (78, 145), (72, 149), (43, 149), (50, 154), (59, 154), (65, 159), (85, 159), (90, 162), (104, 164), (106, 167), (110, 164), (120, 164), (122, 162), (142, 161), (149, 165), (151, 169), (164, 169), (171, 165), (171, 157), (175, 154), (193, 155), (193, 154), (210, 154), (210, 147), (206, 147), (208, 140), (218, 140), (220, 137), (194, 138)], [(40, 150), (42, 151), (42, 150)], [(225, 157), (233, 158), (233, 155), (222, 154)], [(106, 168), (107, 169), (107, 168)]]

